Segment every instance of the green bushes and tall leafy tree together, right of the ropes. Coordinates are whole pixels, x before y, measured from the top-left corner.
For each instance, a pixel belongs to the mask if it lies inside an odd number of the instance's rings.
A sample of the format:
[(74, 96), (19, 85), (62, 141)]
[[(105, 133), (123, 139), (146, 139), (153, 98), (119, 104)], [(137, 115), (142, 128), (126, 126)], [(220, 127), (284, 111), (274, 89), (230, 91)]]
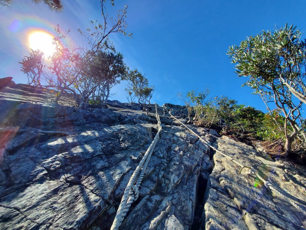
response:
[[(238, 76), (248, 76), (250, 86), (267, 106), (263, 113), (238, 105), (225, 96), (207, 99), (209, 89), (196, 94), (189, 91), (178, 97), (188, 108), (189, 122), (207, 128), (222, 129), (224, 134), (246, 134), (280, 146), (284, 157), (306, 154), (306, 40), (296, 27), (285, 25), (275, 32), (263, 31), (249, 36), (240, 46), (231, 46), (227, 54), (236, 64)], [(276, 106), (271, 109), (271, 103)]]

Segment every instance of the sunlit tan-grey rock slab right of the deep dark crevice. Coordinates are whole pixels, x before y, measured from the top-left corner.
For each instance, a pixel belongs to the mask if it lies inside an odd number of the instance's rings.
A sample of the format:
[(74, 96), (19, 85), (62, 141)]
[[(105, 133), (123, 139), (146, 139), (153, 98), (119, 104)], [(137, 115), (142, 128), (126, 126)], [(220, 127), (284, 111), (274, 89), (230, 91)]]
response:
[[(258, 170), (306, 211), (306, 187), (286, 173), (290, 171), (305, 178), (305, 170), (287, 162), (272, 161), (265, 155), (254, 155), (251, 146), (225, 136), (218, 138), (215, 146), (243, 165)], [(240, 167), (221, 154), (214, 155), (214, 162), (205, 194), (203, 229), (305, 229), (305, 215), (267, 189), (259, 178), (248, 176), (246, 170), (238, 174)]]

